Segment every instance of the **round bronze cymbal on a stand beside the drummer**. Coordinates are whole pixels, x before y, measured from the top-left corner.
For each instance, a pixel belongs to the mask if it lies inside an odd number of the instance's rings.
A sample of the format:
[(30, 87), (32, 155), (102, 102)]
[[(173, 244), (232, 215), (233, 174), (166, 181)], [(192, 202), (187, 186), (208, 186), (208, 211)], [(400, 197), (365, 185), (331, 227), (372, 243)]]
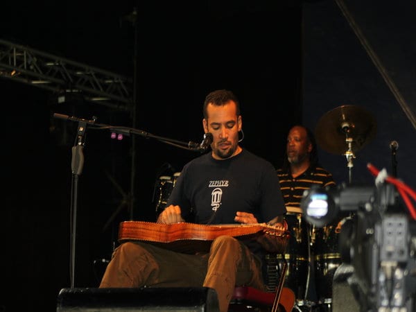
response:
[(345, 155), (349, 150), (347, 138), (352, 139), (352, 152), (367, 145), (376, 135), (376, 120), (363, 107), (342, 105), (326, 112), (318, 121), (315, 137), (328, 153)]

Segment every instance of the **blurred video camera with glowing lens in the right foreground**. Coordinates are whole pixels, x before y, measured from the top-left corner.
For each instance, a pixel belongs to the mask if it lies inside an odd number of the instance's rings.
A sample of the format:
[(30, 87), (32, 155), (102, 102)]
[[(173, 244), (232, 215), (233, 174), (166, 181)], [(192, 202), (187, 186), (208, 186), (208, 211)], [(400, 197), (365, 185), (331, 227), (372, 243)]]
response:
[(361, 312), (416, 311), (415, 221), (395, 185), (312, 187), (301, 208), (315, 227), (340, 220), (338, 249)]

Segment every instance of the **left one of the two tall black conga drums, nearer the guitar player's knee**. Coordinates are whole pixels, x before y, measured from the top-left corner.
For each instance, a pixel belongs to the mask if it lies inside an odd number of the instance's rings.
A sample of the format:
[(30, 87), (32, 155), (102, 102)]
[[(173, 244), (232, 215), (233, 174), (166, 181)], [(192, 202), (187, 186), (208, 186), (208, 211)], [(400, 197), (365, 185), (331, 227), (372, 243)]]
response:
[[(281, 254), (266, 256), (266, 263), (268, 269), (272, 268), (273, 262), (276, 263), (277, 281), (280, 279), (281, 269), (283, 263), (288, 263), (286, 276), (284, 277), (284, 286), (291, 288), (295, 293), (296, 302), (298, 306), (305, 304), (306, 300), (306, 286), (309, 276), (309, 235), (310, 225), (302, 218), (302, 214), (287, 212), (284, 216), (288, 224), (288, 231), (291, 237), (286, 248), (285, 259)], [(273, 259), (275, 258), (275, 259)], [(268, 272), (270, 276), (270, 273)]]

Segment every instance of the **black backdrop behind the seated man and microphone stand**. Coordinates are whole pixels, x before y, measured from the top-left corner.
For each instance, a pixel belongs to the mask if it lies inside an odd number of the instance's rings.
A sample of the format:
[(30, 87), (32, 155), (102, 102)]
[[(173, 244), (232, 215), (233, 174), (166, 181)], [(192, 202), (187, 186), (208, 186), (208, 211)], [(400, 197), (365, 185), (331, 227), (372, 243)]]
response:
[[(202, 141), (202, 103), (214, 89), (241, 101), (242, 146), (275, 166), (286, 132), (302, 119), (301, 8), (284, 1), (42, 1), (3, 3), (2, 39), (132, 78), (137, 129)], [(137, 9), (135, 24), (128, 20)], [(135, 57), (135, 55), (137, 55)], [(135, 67), (137, 62), (137, 67)], [(70, 286), (71, 147), (77, 123), (54, 112), (132, 126), (132, 116), (97, 104), (58, 105), (57, 94), (0, 80), (3, 108), (0, 311), (55, 311)], [(87, 128), (76, 215), (76, 287), (98, 286), (116, 244), (119, 221), (153, 220), (159, 175), (172, 175), (198, 153), (155, 139), (122, 141)], [(133, 210), (123, 205), (135, 177)]]

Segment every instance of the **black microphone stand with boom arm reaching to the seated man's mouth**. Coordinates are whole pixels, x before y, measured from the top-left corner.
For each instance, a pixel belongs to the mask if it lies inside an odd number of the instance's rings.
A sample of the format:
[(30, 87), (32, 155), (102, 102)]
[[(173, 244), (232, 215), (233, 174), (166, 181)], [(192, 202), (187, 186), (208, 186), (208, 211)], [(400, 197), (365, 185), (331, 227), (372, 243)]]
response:
[[(185, 150), (197, 151), (200, 153), (205, 153), (207, 150), (206, 141), (202, 141), (201, 144), (195, 143), (193, 141), (184, 142), (178, 141), (175, 139), (169, 139), (167, 137), (159, 137), (157, 135), (152, 135), (149, 132), (143, 130), (128, 128), (123, 126), (115, 125), (106, 125), (103, 123), (96, 123), (96, 117), (93, 116), (92, 120), (82, 119), (75, 116), (68, 116), (64, 114), (53, 114), (54, 118), (65, 119), (69, 121), (78, 122), (78, 131), (77, 137), (74, 146), (72, 147), (72, 159), (71, 159), (71, 172), (72, 172), (72, 184), (71, 184), (71, 252), (70, 252), (70, 279), (71, 279), (71, 288), (74, 288), (75, 285), (75, 260), (76, 260), (76, 213), (78, 209), (78, 180), (79, 176), (83, 172), (84, 166), (84, 154), (83, 149), (85, 146), (85, 132), (87, 131), (87, 125), (94, 126), (91, 129), (96, 130), (110, 130), (111, 132), (116, 132), (119, 134), (134, 134), (140, 135), (141, 137), (153, 138), (159, 141), (162, 141), (165, 144), (176, 146), (178, 148), (183, 148)], [(114, 214), (111, 216), (109, 222), (114, 218)], [(107, 222), (108, 223), (108, 222)]]

